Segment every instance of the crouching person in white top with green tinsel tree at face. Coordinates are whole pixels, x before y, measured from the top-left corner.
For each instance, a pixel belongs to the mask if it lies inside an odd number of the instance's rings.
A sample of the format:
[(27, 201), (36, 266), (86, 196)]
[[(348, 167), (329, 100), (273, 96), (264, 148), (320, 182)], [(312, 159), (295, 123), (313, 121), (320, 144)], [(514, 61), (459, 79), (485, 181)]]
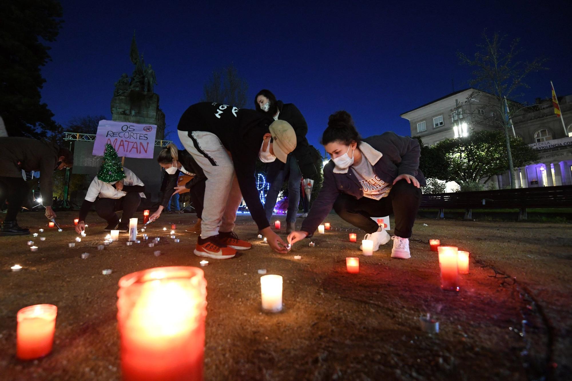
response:
[[(129, 219), (139, 207), (141, 197), (145, 197), (144, 190), (143, 182), (131, 170), (121, 165), (113, 146), (106, 144), (100, 172), (89, 184), (88, 193), (81, 204), (76, 232), (85, 230), (85, 217), (94, 202), (97, 215), (108, 223), (104, 230), (128, 231)], [(99, 199), (96, 202), (97, 197)], [(123, 211), (121, 221), (116, 211)]]

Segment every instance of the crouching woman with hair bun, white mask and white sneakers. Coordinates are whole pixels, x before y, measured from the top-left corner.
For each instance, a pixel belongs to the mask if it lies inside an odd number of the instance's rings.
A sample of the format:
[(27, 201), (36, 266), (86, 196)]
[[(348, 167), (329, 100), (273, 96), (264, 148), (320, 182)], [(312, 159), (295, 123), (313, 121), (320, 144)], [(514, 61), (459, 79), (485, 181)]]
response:
[[(288, 236), (288, 243), (311, 237), (328, 213), (366, 231), (374, 251), (390, 236), (371, 217), (395, 215), (392, 258), (411, 257), (409, 238), (421, 203), (419, 142), (393, 132), (362, 139), (351, 115), (338, 111), (328, 120), (321, 138), (332, 158), (324, 166), (324, 183), (301, 230)], [(361, 249), (361, 247), (360, 247)]]

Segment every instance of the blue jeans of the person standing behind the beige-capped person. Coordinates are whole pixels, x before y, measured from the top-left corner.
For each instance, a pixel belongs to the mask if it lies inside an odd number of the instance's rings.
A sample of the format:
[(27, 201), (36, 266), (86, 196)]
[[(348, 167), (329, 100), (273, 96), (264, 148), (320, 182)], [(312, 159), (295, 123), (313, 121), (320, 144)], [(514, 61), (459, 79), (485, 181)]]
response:
[(280, 193), (280, 189), (282, 189), (282, 184), (286, 177), (288, 177), (288, 212), (286, 213), (286, 221), (291, 223), (296, 222), (298, 203), (300, 203), (300, 181), (302, 179), (302, 173), (300, 172), (296, 158), (292, 154), (288, 155), (284, 169), (278, 170), (276, 176), (274, 176), (270, 183), (270, 189), (268, 189), (266, 203), (264, 204), (264, 211), (266, 212), (268, 221), (270, 221), (272, 217), (278, 193)]

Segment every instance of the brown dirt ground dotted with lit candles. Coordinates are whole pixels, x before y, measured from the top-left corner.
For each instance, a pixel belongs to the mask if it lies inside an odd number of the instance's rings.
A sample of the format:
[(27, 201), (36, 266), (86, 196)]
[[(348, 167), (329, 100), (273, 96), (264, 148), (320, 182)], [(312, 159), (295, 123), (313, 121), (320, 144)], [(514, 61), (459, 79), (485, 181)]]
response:
[[(57, 220), (72, 221), (75, 214), (60, 212)], [(197, 235), (185, 232), (195, 220), (162, 215), (146, 231), (164, 237), (155, 248), (127, 247), (122, 233), (118, 243), (97, 251), (105, 223), (93, 213), (88, 236), (75, 248), (67, 247), (77, 236), (72, 224), (61, 233), (44, 227), (45, 241), (0, 237), (0, 378), (120, 379), (117, 281), (146, 268), (198, 266)], [(391, 242), (361, 256), (359, 244), (348, 241), (351, 227), (333, 214), (328, 220), (341, 230), (317, 235), (314, 248), (307, 239), (278, 255), (256, 238), (248, 215), (239, 217), (235, 231), (253, 248), (204, 268), (205, 380), (569, 379), (570, 224), (418, 219), (411, 259), (397, 260), (390, 258)], [(45, 219), (23, 213), (19, 223), (37, 232)], [(177, 224), (181, 243), (162, 231), (169, 223)], [(353, 231), (362, 239), (363, 232)], [(459, 292), (440, 289), (430, 238), (471, 252), (471, 272), (462, 276)], [(30, 239), (38, 252), (30, 252)], [(158, 249), (163, 255), (156, 257)], [(91, 256), (81, 259), (84, 252)], [(359, 274), (345, 271), (347, 256), (360, 257)], [(15, 263), (22, 271), (10, 271)], [(112, 275), (102, 275), (107, 268)], [(281, 313), (260, 311), (261, 268), (284, 277)], [(16, 313), (38, 303), (58, 306), (54, 349), (21, 362)], [(420, 330), (419, 317), (427, 312), (439, 321), (439, 334)]]

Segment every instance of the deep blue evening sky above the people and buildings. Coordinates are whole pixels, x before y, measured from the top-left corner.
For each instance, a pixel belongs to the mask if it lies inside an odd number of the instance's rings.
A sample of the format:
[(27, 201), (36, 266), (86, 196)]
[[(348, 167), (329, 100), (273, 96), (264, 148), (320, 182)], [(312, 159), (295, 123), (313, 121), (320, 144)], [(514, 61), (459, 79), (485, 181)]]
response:
[(212, 70), (233, 63), (248, 81), (247, 107), (270, 89), (300, 109), (320, 150), (328, 116), (340, 109), (363, 136), (408, 135), (399, 114), (451, 93), (451, 79), (455, 90), (467, 87), (470, 69), (455, 53), (472, 55), (484, 28), (520, 37), (523, 60), (549, 58), (550, 70), (531, 74), (519, 101), (550, 97), (550, 80), (558, 95), (572, 94), (566, 2), (386, 3), (62, 1), (65, 23), (42, 70), (43, 101), (64, 125), (76, 116), (110, 117), (113, 84), (133, 70), (133, 29), (173, 132)]

